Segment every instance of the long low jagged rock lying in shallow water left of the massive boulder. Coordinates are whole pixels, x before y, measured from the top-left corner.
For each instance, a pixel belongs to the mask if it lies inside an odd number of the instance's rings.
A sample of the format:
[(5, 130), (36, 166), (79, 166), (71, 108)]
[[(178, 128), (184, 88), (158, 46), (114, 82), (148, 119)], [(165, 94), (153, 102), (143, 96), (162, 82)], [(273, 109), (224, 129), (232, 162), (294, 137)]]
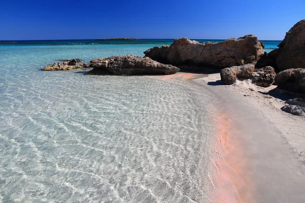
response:
[(172, 65), (159, 63), (151, 58), (133, 55), (110, 56), (105, 59), (94, 59), (85, 64), (93, 67), (88, 74), (104, 75), (160, 75), (175, 74), (179, 69)]

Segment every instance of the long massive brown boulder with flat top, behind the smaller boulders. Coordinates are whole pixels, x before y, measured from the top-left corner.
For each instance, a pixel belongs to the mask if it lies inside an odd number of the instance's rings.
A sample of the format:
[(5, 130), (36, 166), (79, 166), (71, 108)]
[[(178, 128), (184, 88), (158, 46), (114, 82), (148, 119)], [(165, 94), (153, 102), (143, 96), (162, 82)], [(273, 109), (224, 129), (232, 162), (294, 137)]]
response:
[(199, 43), (188, 38), (177, 39), (170, 46), (153, 47), (145, 56), (181, 69), (200, 70), (204, 66), (230, 67), (254, 63), (264, 54), (257, 37), (247, 35), (220, 43)]

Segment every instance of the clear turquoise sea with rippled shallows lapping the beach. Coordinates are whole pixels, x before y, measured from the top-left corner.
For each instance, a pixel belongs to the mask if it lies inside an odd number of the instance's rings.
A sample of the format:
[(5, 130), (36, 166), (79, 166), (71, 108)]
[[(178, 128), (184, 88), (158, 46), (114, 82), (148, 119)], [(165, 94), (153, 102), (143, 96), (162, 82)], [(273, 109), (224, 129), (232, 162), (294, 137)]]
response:
[(0, 202), (211, 202), (220, 149), (207, 90), (179, 78), (41, 70), (172, 41), (1, 42)]

